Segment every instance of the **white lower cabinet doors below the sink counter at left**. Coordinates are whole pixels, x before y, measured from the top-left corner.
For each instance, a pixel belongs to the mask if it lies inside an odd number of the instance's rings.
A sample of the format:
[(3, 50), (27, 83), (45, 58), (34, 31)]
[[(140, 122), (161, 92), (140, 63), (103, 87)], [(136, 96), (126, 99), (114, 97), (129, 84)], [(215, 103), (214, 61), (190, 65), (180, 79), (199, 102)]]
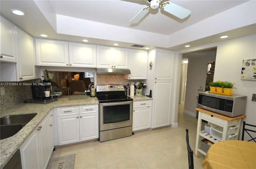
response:
[(20, 147), (22, 168), (46, 169), (52, 155), (50, 138), (49, 116), (46, 116)]

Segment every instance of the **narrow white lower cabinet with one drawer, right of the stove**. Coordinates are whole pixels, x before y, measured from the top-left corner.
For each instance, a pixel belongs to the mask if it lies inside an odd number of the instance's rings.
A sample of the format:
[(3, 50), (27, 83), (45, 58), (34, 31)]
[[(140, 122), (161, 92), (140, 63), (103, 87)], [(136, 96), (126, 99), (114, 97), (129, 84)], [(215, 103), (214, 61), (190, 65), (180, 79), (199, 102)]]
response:
[(151, 127), (152, 100), (134, 101), (132, 113), (132, 131)]

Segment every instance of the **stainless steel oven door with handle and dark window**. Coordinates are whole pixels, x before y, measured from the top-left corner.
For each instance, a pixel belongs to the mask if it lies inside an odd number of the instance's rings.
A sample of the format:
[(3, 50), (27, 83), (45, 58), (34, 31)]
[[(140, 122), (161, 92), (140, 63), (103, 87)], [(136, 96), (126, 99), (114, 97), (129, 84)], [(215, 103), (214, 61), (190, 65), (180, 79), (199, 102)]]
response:
[(132, 101), (100, 103), (100, 131), (132, 126)]

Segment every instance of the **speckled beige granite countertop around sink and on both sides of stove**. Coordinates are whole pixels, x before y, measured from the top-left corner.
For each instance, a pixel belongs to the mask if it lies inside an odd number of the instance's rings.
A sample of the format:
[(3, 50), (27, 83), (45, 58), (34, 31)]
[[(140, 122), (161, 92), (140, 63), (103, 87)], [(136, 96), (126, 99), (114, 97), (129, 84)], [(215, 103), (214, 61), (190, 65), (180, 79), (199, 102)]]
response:
[[(148, 96), (130, 96), (134, 101), (141, 100), (152, 100)], [(80, 106), (99, 104), (96, 97), (90, 97), (87, 95), (73, 95), (73, 96), (59, 96), (58, 101), (39, 104), (39, 103), (19, 103), (14, 105), (12, 108), (1, 111), (1, 117), (16, 114), (32, 114), (37, 115), (26, 124), (17, 134), (12, 137), (3, 139), (0, 141), (1, 144), (1, 156), (0, 156), (0, 168), (3, 168), (10, 158), (20, 148), (20, 145), (30, 136), (30, 134), (36, 129), (36, 126), (46, 117), (46, 115), (56, 107), (65, 106)]]

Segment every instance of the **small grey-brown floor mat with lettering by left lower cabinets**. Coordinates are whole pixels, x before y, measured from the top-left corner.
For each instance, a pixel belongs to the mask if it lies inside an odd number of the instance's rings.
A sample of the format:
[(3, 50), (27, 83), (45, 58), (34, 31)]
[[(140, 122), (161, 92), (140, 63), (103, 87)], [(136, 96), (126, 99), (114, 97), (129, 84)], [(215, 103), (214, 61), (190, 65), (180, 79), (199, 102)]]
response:
[(74, 169), (76, 154), (50, 159), (46, 169)]

